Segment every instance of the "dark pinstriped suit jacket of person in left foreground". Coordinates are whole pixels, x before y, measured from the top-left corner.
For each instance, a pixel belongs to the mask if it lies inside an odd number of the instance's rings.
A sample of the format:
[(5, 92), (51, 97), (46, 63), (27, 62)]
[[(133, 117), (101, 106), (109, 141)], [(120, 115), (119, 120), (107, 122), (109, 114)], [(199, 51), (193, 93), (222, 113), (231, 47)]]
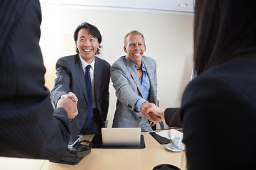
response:
[(39, 1), (0, 0), (0, 11), (0, 156), (58, 160), (70, 120), (44, 86)]

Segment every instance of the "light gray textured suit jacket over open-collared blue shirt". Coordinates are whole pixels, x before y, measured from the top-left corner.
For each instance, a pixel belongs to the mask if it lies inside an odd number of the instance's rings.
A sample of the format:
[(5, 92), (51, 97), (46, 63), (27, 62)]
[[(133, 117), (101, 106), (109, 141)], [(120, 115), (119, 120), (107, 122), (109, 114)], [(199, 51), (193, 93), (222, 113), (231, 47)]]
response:
[[(143, 56), (142, 60), (150, 80), (149, 102), (157, 105), (156, 62), (151, 57), (146, 56)], [(112, 127), (139, 127), (143, 131), (152, 130), (149, 121), (142, 116), (142, 113), (135, 110), (137, 100), (143, 98), (142, 86), (137, 70), (127, 56), (119, 57), (112, 64), (110, 75), (117, 96), (117, 108)]]

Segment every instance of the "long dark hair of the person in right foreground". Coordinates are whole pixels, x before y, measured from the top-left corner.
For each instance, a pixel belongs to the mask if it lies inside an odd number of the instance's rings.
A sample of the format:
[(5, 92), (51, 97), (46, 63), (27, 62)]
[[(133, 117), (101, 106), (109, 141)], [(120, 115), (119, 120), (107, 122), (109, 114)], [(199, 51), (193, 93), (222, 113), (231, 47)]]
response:
[(201, 74), (242, 53), (256, 50), (255, 0), (196, 0), (194, 53)]

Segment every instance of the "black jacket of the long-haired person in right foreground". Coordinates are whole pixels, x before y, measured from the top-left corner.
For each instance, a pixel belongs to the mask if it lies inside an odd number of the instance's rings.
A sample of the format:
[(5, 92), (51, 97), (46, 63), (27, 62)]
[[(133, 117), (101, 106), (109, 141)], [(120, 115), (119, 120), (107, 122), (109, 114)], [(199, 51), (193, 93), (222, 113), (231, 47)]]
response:
[(256, 152), (256, 53), (191, 81), (181, 103), (188, 169), (250, 169)]

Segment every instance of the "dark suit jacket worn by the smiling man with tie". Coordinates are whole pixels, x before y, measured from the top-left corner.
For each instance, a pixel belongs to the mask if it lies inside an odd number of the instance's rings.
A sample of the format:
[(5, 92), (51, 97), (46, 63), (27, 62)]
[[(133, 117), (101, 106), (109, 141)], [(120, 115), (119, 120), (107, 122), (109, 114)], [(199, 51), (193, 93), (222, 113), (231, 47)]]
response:
[[(83, 69), (78, 54), (61, 57), (56, 64), (57, 78), (55, 79), (55, 86), (51, 91), (55, 105), (60, 96), (68, 94), (69, 91), (72, 91), (78, 97), (78, 115), (72, 120), (72, 138), (70, 141), (75, 140), (79, 135), (89, 108)], [(110, 64), (99, 57), (95, 57), (94, 92), (102, 127), (105, 127), (109, 107), (109, 84)]]

